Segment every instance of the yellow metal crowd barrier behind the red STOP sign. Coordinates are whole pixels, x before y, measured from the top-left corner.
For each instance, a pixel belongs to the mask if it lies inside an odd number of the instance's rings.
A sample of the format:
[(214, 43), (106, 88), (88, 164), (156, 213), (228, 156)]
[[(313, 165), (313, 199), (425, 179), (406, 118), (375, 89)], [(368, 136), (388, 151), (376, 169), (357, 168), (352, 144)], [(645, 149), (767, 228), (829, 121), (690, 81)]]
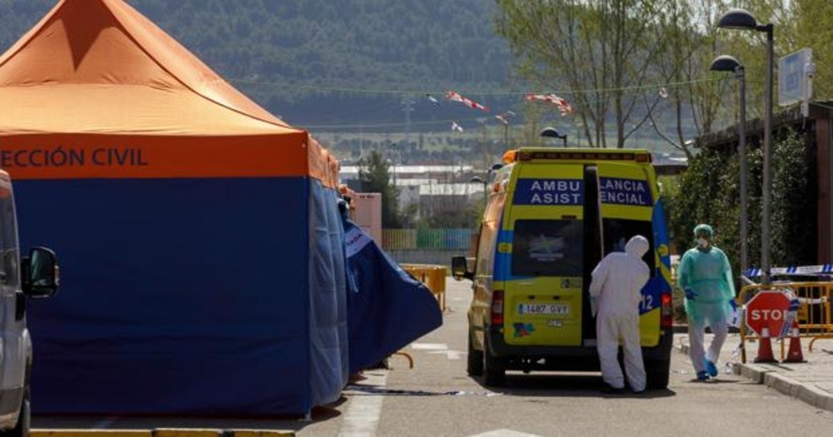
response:
[[(798, 300), (796, 311), (799, 336), (809, 338), (808, 350), (813, 350), (816, 340), (833, 339), (833, 313), (831, 313), (831, 299), (833, 299), (833, 282), (774, 282), (769, 286), (751, 284), (741, 288), (737, 299), (741, 305), (746, 305), (758, 291), (790, 291)], [(741, 345), (746, 340), (758, 340), (759, 335), (747, 334), (746, 318), (741, 317), (740, 333)], [(771, 337), (775, 339), (777, 333)], [(781, 339), (781, 360), (785, 357), (785, 341)], [(741, 361), (746, 363), (746, 347), (741, 348)]]

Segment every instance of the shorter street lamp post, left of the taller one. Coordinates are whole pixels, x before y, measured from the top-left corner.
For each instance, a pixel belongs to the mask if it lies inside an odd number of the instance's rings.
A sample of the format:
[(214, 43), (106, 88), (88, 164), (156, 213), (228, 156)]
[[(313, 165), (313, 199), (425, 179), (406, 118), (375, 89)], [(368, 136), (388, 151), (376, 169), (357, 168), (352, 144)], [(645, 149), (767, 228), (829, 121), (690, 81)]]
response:
[(741, 89), (741, 120), (737, 124), (738, 146), (737, 155), (741, 162), (741, 275), (746, 275), (746, 269), (749, 267), (747, 258), (747, 236), (748, 236), (748, 221), (749, 213), (747, 211), (747, 178), (749, 177), (749, 170), (746, 164), (746, 75), (744, 73), (741, 62), (731, 56), (719, 56), (711, 61), (709, 67), (714, 72), (734, 72)]

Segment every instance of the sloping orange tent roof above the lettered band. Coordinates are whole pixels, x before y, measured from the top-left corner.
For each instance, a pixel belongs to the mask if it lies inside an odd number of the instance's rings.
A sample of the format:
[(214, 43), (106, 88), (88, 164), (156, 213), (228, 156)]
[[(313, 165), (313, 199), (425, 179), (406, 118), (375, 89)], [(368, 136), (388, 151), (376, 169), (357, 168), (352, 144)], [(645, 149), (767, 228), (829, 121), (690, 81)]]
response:
[(300, 132), (122, 0), (61, 0), (0, 57), (0, 135)]

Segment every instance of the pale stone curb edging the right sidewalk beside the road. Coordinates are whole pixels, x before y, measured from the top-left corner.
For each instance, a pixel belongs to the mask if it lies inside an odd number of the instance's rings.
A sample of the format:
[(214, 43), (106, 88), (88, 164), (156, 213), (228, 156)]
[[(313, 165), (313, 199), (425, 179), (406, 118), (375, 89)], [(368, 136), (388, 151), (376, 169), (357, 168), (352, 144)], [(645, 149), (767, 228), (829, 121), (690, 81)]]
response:
[[(681, 353), (688, 355), (688, 345), (679, 343), (674, 347)], [(735, 363), (733, 371), (735, 375), (741, 375), (756, 384), (766, 385), (820, 410), (833, 411), (833, 395), (812, 385), (806, 385), (801, 381), (781, 375), (775, 370), (769, 370), (755, 364)]]

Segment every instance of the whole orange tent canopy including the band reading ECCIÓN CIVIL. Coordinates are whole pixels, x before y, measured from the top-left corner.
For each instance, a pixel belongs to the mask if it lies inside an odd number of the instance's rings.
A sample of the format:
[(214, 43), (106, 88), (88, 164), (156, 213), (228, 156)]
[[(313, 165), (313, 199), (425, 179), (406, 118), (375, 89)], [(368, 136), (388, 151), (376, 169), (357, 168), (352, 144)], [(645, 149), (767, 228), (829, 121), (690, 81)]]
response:
[(61, 0), (0, 57), (12, 177), (313, 176), (337, 161), (122, 0)]

